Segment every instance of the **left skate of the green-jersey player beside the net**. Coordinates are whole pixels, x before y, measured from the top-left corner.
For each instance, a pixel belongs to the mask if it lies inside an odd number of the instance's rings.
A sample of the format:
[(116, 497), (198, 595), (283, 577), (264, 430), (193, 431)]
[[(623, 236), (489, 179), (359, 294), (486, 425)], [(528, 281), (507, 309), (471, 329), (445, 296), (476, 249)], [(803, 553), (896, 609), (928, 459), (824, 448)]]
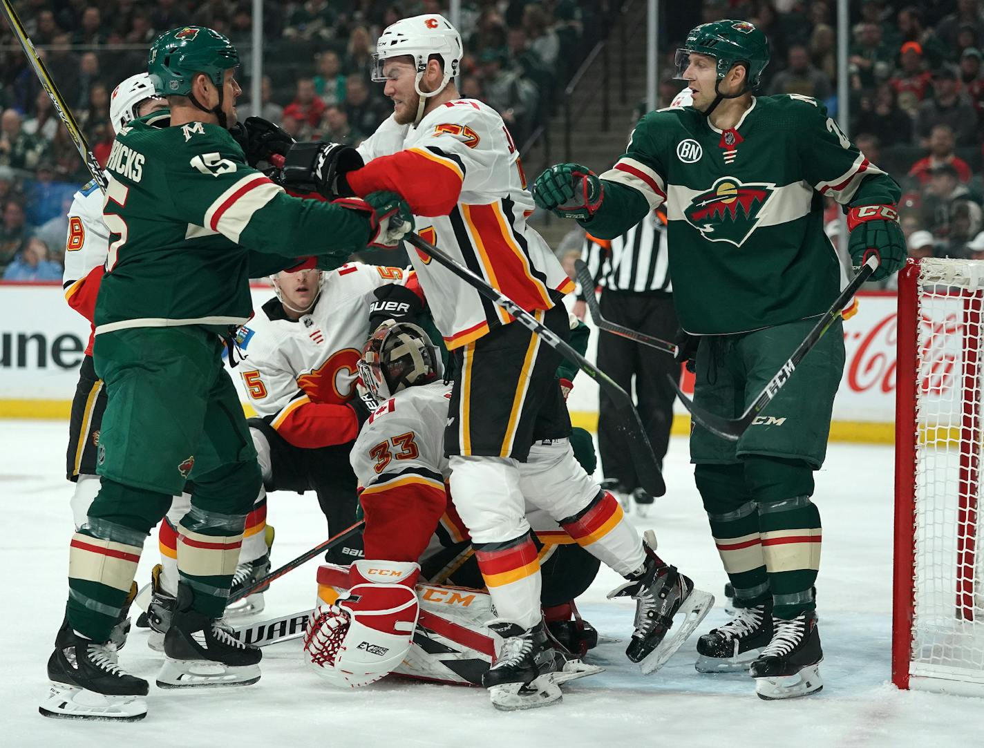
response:
[(772, 639), (772, 600), (761, 605), (739, 605), (734, 617), (697, 640), (698, 672), (748, 672)]

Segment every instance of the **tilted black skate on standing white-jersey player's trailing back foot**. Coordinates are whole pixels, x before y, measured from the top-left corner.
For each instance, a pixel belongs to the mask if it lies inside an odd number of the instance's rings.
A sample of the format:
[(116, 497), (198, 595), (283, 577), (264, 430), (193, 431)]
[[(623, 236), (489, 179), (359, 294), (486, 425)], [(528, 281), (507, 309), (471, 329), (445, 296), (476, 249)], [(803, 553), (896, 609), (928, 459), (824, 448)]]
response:
[[(634, 577), (608, 593), (608, 598), (631, 597), (636, 601), (636, 630), (625, 654), (639, 662), (644, 674), (654, 672), (670, 659), (714, 604), (714, 596), (695, 589), (690, 577), (667, 566), (655, 553), (656, 536), (646, 531), (646, 563)], [(666, 638), (673, 628), (673, 634)]]

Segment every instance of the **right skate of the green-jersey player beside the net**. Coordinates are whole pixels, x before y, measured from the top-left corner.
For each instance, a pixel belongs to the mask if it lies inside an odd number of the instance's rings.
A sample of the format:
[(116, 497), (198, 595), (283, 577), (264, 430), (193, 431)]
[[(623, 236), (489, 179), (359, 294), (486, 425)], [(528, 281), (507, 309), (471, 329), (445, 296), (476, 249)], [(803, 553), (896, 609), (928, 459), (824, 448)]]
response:
[(820, 691), (824, 681), (818, 665), (824, 660), (824, 651), (816, 612), (807, 610), (792, 620), (773, 618), (772, 626), (769, 646), (749, 668), (756, 678), (759, 698), (792, 699)]

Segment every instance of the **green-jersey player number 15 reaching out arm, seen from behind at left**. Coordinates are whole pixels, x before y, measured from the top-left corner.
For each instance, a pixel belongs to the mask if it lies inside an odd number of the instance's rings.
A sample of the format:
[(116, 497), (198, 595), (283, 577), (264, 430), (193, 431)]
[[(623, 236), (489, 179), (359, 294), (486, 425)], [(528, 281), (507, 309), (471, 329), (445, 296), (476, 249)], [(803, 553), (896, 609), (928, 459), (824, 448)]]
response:
[[(395, 246), (412, 229), (398, 196), (303, 201), (252, 168), (228, 132), (241, 92), (237, 66), (235, 47), (212, 29), (159, 36), (148, 72), (168, 100), (169, 126), (155, 127), (155, 115), (135, 120), (109, 155), (111, 236), (93, 350), (108, 393), (96, 458), (102, 484), (71, 543), (66, 617), (40, 708), (46, 716), (146, 715), (148, 683), (119, 667), (109, 632), (144, 540), (188, 480), (194, 490), (178, 527), (180, 581), (157, 685), (259, 679), (260, 651), (219, 622), (261, 484), (223, 369), (223, 339), (252, 314), (250, 277), (297, 265), (300, 256), (336, 267), (367, 245)], [(397, 214), (402, 223), (391, 226)]]

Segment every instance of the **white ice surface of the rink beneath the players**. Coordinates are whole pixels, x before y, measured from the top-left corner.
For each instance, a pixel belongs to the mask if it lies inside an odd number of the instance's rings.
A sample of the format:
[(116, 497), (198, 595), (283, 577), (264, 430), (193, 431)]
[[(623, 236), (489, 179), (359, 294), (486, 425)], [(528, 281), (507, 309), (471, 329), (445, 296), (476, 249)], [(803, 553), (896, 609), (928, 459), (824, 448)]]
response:
[[(622, 652), (601, 645), (591, 661), (608, 670), (572, 683), (564, 701), (532, 712), (495, 712), (479, 689), (406, 680), (334, 690), (304, 668), (299, 644), (264, 653), (255, 686), (175, 692), (151, 687), (147, 719), (129, 724), (43, 719), (44, 664), (62, 618), (72, 532), (64, 480), (67, 427), (60, 422), (0, 423), (0, 488), (6, 509), (0, 546), (0, 745), (50, 748), (134, 746), (970, 746), (984, 745), (984, 700), (897, 691), (890, 683), (892, 448), (832, 444), (817, 476), (824, 519), (819, 588), (826, 660), (824, 691), (789, 702), (756, 698), (742, 674), (694, 670), (695, 638), (659, 672), (643, 677)], [(660, 554), (718, 597), (700, 631), (724, 621), (724, 573), (693, 486), (687, 443), (674, 439), (666, 461), (668, 494), (641, 529), (657, 530)], [(274, 493), (274, 563), (324, 540), (313, 494)], [(156, 562), (150, 539), (138, 583)], [(315, 563), (292, 571), (267, 593), (263, 617), (314, 600)], [(620, 578), (602, 569), (580, 601), (605, 636), (624, 640), (631, 604), (604, 600)], [(700, 633), (699, 631), (699, 633)], [(136, 631), (121, 656), (152, 681), (159, 657)], [(112, 743), (110, 743), (112, 741)]]

